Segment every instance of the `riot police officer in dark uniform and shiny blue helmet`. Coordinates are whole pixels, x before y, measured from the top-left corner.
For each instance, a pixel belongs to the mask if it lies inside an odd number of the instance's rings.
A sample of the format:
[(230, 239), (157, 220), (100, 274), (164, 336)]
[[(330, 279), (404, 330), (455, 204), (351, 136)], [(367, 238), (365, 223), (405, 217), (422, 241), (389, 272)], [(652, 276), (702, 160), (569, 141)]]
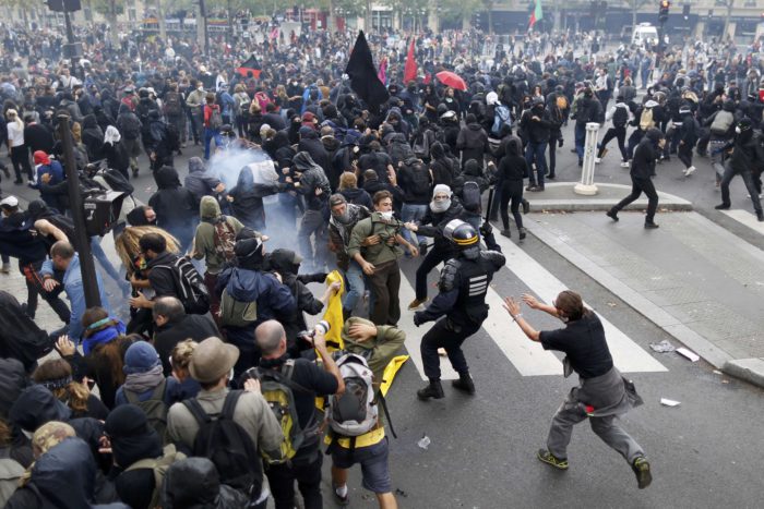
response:
[(454, 388), (475, 393), (462, 343), (477, 332), (488, 317), (488, 286), (493, 274), (505, 263), (501, 253), (481, 251), (477, 231), (461, 219), (451, 220), (443, 229), (443, 235), (456, 246), (457, 254), (445, 263), (441, 271), (440, 293), (427, 310), (414, 314), (414, 325), (417, 327), (438, 320), (425, 335), (420, 346), (425, 375), (430, 379), (427, 387), (417, 391), (422, 400), (443, 397), (439, 348), (445, 349), (451, 365), (459, 374), (458, 380), (452, 381)]

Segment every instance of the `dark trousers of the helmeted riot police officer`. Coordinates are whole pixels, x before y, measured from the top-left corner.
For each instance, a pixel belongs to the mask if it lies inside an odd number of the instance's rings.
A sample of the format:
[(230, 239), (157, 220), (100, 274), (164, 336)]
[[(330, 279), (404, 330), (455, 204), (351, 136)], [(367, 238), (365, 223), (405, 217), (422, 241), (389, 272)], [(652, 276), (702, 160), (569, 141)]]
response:
[(457, 373), (469, 373), (467, 360), (462, 351), (462, 343), (479, 329), (480, 324), (459, 326), (453, 324), (447, 316), (435, 322), (435, 325), (421, 338), (419, 346), (425, 375), (431, 380), (440, 380), (439, 348), (445, 349), (449, 361)]

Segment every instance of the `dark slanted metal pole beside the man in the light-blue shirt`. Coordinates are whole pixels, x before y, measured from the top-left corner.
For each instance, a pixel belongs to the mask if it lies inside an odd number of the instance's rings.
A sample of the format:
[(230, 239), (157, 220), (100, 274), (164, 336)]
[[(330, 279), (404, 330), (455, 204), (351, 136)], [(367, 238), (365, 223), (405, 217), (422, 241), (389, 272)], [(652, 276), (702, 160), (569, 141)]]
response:
[(69, 204), (74, 222), (74, 250), (80, 255), (80, 270), (82, 271), (82, 286), (85, 291), (85, 304), (87, 307), (100, 306), (100, 293), (95, 274), (95, 263), (91, 252), (91, 239), (85, 227), (85, 209), (80, 193), (80, 177), (76, 172), (74, 160), (74, 144), (72, 133), (69, 131), (69, 116), (58, 116), (59, 138), (63, 148), (63, 167), (67, 170), (67, 186), (69, 189)]

